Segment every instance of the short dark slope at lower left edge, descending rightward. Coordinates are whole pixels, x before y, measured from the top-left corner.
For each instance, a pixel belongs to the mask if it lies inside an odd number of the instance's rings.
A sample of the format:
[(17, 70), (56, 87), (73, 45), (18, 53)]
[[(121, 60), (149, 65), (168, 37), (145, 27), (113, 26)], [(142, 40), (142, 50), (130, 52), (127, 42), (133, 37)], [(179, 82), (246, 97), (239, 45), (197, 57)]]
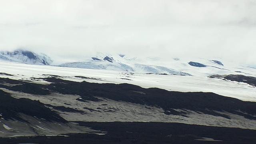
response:
[(44, 119), (48, 122), (64, 122), (62, 117), (58, 114), (46, 108), (44, 104), (36, 100), (30, 100), (27, 98), (16, 99), (10, 96), (10, 94), (0, 90), (0, 113), (2, 118), (6, 120), (20, 120), (27, 122), (20, 118), (19, 113), (26, 114), (28, 116)]

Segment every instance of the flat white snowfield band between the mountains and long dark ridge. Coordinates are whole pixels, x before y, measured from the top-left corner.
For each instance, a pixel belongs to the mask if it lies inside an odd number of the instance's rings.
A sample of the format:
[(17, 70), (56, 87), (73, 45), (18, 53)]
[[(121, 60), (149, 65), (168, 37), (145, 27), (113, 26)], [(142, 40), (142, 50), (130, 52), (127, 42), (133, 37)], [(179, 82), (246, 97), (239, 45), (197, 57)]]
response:
[[(214, 92), (222, 96), (238, 98), (244, 101), (256, 102), (256, 88), (244, 82), (234, 82), (207, 76), (179, 76), (158, 75), (137, 72), (118, 72), (110, 70), (94, 70), (83, 68), (64, 68), (55, 66), (38, 66), (19, 64), (15, 62), (0, 62), (0, 72), (13, 74), (14, 76), (0, 75), (4, 78), (17, 80), (31, 80), (32, 77), (42, 78), (43, 74), (63, 76), (63, 79), (72, 81), (87, 81), (96, 83), (128, 83), (143, 88), (162, 88), (169, 91), (179, 92)], [(98, 78), (98, 80), (77, 78), (85, 76)], [(48, 84), (49, 82), (34, 80)]]

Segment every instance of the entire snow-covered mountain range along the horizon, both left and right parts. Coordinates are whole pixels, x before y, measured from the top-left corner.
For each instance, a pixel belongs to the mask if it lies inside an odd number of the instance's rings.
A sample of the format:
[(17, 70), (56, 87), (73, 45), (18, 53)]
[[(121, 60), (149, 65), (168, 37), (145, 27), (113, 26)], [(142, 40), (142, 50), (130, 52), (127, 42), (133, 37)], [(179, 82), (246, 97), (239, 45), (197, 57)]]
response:
[[(0, 60), (34, 65), (51, 65), (53, 62), (46, 54), (36, 54), (27, 50), (2, 51)], [(74, 60), (54, 66), (183, 76), (212, 76), (214, 74), (256, 76), (255, 68), (239, 65), (222, 58), (134, 57), (125, 54), (97, 53), (84, 56), (82, 61)]]

